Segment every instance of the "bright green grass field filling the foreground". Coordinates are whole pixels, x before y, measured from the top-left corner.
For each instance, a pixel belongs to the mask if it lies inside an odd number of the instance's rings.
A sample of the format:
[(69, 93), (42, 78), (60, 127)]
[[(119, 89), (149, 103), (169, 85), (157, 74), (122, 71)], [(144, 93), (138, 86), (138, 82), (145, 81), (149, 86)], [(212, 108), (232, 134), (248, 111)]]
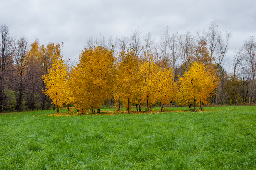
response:
[(1, 114), (0, 169), (256, 169), (255, 106), (167, 109)]

